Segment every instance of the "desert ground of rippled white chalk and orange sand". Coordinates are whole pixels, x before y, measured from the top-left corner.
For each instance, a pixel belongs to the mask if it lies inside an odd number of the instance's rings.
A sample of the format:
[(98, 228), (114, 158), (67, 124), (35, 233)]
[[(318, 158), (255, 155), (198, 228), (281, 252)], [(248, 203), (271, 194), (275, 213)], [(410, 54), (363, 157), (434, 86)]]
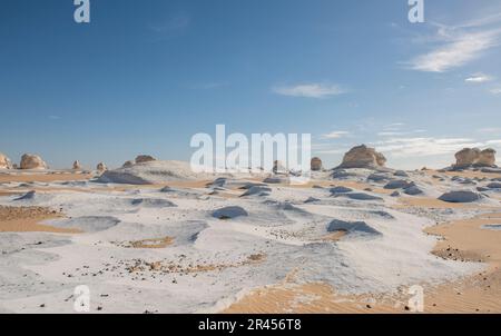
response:
[[(230, 178), (214, 192), (205, 178), (137, 186), (37, 172), (23, 174), (22, 181), (45, 185), (22, 186), (16, 185), (19, 175), (1, 175), (11, 182), (0, 186), (0, 233), (8, 238), (0, 239), (7, 244), (2, 249), (32, 248), (22, 240), (30, 235), (51, 247), (27, 250), (29, 266), (19, 268), (12, 266), (17, 254), (8, 255), (4, 271), (11, 276), (0, 285), (12, 286), (9, 279), (27, 269), (37, 276), (18, 279), (20, 288), (24, 280), (26, 288), (57, 285), (19, 296), (0, 291), (6, 297), (0, 309), (39, 313), (43, 300), (43, 312), (71, 313), (66, 298), (72, 285), (88, 284), (92, 291), (114, 294), (99, 298), (107, 313), (410, 313), (406, 288), (418, 283), (425, 313), (501, 312), (501, 231), (481, 228), (501, 223), (495, 191), (484, 201), (443, 202), (436, 197), (458, 184), (410, 172), (425, 194), (395, 198), (384, 182), (356, 174), (347, 180), (271, 184), (269, 195), (248, 197), (239, 197), (243, 180)], [(65, 180), (86, 182), (60, 184)], [(166, 186), (173, 190), (161, 192)], [(332, 197), (335, 186), (381, 199)], [(35, 198), (14, 200), (30, 190)], [(248, 216), (212, 216), (229, 206)], [(367, 231), (328, 233), (334, 219), (363, 221)], [(63, 285), (67, 291), (59, 289)]]

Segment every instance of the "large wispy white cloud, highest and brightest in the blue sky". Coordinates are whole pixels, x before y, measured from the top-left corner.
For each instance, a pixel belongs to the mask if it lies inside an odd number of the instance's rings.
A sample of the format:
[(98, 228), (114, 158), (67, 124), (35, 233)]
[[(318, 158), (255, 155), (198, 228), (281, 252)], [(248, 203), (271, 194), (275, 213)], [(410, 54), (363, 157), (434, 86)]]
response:
[(450, 69), (464, 66), (478, 58), (484, 51), (498, 45), (499, 30), (452, 33), (442, 27), (439, 38), (445, 40), (445, 45), (418, 56), (409, 63), (411, 69), (429, 72), (445, 72)]

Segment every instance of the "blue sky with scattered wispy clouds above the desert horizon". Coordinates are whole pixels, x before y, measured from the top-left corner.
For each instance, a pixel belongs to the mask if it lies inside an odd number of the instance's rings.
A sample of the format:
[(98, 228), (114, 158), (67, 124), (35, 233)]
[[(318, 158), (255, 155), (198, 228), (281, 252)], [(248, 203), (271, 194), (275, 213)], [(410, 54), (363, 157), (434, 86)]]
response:
[(72, 0), (0, 3), (0, 152), (117, 167), (189, 160), (198, 132), (312, 134), (334, 167), (351, 147), (441, 168), (501, 152), (501, 2)]

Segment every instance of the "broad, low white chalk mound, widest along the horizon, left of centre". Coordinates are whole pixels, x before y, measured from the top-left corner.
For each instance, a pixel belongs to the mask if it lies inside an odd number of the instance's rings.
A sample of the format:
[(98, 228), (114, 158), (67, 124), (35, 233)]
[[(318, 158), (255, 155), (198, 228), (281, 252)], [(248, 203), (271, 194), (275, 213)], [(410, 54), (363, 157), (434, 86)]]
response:
[(194, 172), (188, 162), (149, 161), (132, 167), (108, 170), (98, 179), (105, 184), (154, 185), (179, 180), (203, 180), (214, 175)]

